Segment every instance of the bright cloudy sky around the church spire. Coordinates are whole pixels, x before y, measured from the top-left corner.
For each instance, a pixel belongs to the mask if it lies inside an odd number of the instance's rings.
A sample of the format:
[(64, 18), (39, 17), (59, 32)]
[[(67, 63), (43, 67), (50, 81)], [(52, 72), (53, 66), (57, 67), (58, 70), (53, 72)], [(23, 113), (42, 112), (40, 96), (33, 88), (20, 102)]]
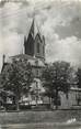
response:
[(3, 54), (23, 53), (34, 17), (46, 39), (46, 62), (81, 67), (81, 0), (10, 0), (0, 3), (0, 69)]

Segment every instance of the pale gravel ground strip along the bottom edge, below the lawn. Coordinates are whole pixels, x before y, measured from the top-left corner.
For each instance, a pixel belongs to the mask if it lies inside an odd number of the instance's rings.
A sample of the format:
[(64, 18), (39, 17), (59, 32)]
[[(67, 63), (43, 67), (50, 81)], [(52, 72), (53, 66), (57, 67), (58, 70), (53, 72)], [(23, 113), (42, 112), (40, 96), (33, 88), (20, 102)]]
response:
[(7, 125), (0, 129), (81, 129), (81, 123), (54, 123), (54, 122), (40, 122), (40, 123), (25, 123), (25, 125)]

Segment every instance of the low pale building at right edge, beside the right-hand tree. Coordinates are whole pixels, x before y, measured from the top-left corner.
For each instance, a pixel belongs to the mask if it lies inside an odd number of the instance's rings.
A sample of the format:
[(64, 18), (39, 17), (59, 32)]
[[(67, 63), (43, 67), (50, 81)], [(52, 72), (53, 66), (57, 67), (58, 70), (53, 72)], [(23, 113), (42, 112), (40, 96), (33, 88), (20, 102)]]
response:
[(71, 87), (68, 93), (68, 98), (63, 92), (59, 92), (60, 108), (62, 109), (81, 109), (81, 88)]

